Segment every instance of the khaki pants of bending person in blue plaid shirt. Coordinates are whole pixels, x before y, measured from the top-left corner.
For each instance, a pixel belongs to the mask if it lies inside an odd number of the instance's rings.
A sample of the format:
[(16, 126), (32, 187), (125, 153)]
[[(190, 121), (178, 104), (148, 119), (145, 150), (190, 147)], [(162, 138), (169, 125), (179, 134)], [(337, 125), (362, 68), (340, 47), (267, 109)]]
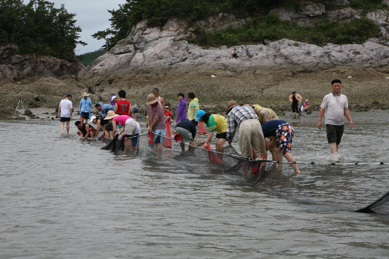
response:
[(256, 158), (261, 158), (261, 155), (267, 154), (261, 123), (257, 119), (240, 122), (239, 146), (242, 156), (246, 158), (252, 158), (251, 149), (254, 151)]

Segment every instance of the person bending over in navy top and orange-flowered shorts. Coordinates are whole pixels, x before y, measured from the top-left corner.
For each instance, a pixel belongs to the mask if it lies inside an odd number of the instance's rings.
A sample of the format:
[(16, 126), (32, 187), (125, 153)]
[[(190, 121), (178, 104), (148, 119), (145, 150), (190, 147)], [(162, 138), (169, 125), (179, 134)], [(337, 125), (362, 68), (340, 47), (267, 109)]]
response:
[[(288, 162), (295, 162), (296, 159), (291, 155), (292, 139), (294, 135), (294, 129), (291, 124), (282, 120), (272, 120), (265, 122), (261, 125), (263, 131), (263, 137), (270, 138), (275, 137), (269, 142), (269, 146), (275, 146), (274, 150), (277, 156), (277, 161), (282, 162), (283, 157)], [(291, 164), (294, 169), (294, 173), (300, 173), (297, 164)]]

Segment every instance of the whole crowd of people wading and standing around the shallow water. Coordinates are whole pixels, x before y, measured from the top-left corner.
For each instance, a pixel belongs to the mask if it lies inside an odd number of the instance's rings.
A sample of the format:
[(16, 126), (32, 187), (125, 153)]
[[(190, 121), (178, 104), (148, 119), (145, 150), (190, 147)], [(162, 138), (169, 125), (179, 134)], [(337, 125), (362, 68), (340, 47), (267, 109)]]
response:
[[(344, 130), (345, 115), (350, 123), (350, 128), (354, 128), (348, 109), (347, 97), (340, 93), (342, 82), (339, 79), (331, 81), (332, 92), (324, 96), (319, 111), (317, 127), (322, 128), (322, 117), (325, 115), (325, 124), (327, 132), (327, 140), (330, 144), (330, 149), (333, 154), (337, 154), (339, 144)], [(130, 101), (126, 100), (126, 92), (120, 90), (118, 92), (119, 100), (115, 95), (111, 96), (111, 101), (115, 103), (95, 105), (100, 111), (102, 117), (91, 116), (90, 122), (97, 125), (95, 129), (91, 124), (88, 124), (90, 108), (92, 103), (88, 98), (89, 94), (84, 93), (80, 101), (80, 120), (75, 122), (78, 128), (77, 134), (81, 138), (90, 137), (96, 139), (100, 128), (103, 129), (103, 135), (110, 137), (117, 132), (119, 128), (121, 137), (124, 139), (124, 151), (137, 146), (137, 138), (140, 133), (140, 126), (135, 120), (137, 106), (132, 106)], [(180, 144), (182, 151), (184, 143), (189, 143), (189, 149), (193, 148), (193, 141), (196, 138), (199, 123), (205, 123), (209, 128), (209, 135), (204, 142), (203, 148), (211, 142), (215, 135), (216, 151), (219, 154), (224, 153), (224, 144), (227, 142), (227, 147), (231, 146), (231, 142), (238, 131), (239, 146), (242, 157), (247, 159), (262, 158), (267, 159), (267, 152), (272, 154), (273, 161), (282, 161), (286, 158), (290, 162), (295, 173), (300, 173), (300, 169), (291, 155), (292, 140), (294, 136), (294, 128), (286, 121), (280, 120), (277, 114), (270, 108), (261, 107), (258, 104), (238, 104), (234, 100), (228, 101), (226, 107), (226, 117), (218, 114), (211, 114), (206, 110), (200, 110), (198, 98), (195, 93), (189, 92), (187, 97), (184, 93), (177, 95), (179, 104), (177, 106), (176, 125), (173, 134), (181, 136)], [(72, 94), (67, 94), (66, 98), (61, 101), (58, 109), (58, 115), (61, 117), (61, 129), (63, 133), (64, 123), (67, 122), (67, 132), (69, 132), (70, 118), (72, 117), (72, 102), (70, 101)], [(115, 100), (116, 99), (116, 100)], [(186, 100), (189, 100), (187, 106)], [(301, 102), (301, 96), (295, 91), (289, 96), (292, 101), (294, 117), (296, 112), (300, 115), (298, 103)], [(171, 124), (172, 116), (168, 106), (165, 106), (165, 100), (159, 96), (159, 89), (154, 88), (152, 93), (146, 97), (147, 106), (147, 127), (148, 133), (152, 134), (152, 148), (157, 151), (157, 158), (162, 156), (163, 143), (166, 137), (166, 126)], [(310, 109), (308, 100), (305, 100), (303, 109)], [(297, 108), (296, 108), (297, 107)], [(84, 122), (84, 119), (86, 122)]]

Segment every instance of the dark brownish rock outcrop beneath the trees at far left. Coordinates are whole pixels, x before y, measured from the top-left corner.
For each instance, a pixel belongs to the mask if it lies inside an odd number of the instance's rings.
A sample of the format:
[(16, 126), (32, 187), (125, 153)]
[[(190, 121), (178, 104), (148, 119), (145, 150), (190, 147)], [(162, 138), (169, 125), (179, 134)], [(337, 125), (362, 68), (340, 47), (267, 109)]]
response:
[(16, 54), (18, 46), (0, 46), (0, 80), (20, 80), (25, 77), (60, 77), (76, 75), (85, 68), (73, 54), (65, 59), (36, 54)]

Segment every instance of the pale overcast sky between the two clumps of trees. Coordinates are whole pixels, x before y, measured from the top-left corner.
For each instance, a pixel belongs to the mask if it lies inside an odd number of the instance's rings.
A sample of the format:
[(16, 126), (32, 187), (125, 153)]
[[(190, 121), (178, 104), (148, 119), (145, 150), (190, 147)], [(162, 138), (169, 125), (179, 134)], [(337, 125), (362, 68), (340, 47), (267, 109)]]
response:
[(108, 19), (111, 14), (107, 10), (118, 9), (119, 3), (123, 4), (126, 0), (49, 0), (49, 2), (53, 2), (55, 7), (61, 7), (63, 3), (68, 12), (76, 14), (76, 25), (82, 29), (79, 40), (88, 43), (86, 46), (77, 44), (75, 54), (79, 55), (100, 49), (105, 41), (93, 39), (91, 35), (109, 28), (111, 22)]

